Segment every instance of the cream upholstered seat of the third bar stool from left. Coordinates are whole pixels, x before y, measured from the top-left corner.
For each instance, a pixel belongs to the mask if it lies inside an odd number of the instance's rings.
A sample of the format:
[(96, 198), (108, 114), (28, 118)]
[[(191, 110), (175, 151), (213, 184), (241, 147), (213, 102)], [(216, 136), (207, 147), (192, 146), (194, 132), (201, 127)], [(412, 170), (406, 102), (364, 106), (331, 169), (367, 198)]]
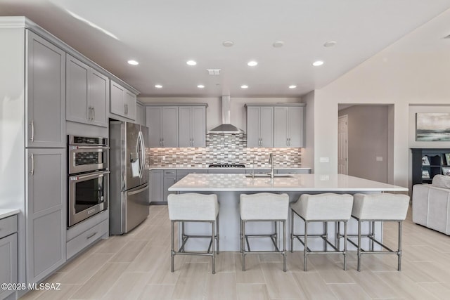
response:
[(306, 221), (349, 220), (353, 196), (349, 194), (303, 194), (290, 208)]

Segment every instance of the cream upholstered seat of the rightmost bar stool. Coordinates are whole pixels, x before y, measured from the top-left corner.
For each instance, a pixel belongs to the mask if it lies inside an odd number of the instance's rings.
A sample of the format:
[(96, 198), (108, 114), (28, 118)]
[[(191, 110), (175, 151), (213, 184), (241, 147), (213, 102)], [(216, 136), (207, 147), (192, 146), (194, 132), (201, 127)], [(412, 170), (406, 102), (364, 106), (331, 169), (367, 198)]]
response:
[(355, 194), (352, 216), (361, 220), (404, 220), (409, 196), (401, 194)]

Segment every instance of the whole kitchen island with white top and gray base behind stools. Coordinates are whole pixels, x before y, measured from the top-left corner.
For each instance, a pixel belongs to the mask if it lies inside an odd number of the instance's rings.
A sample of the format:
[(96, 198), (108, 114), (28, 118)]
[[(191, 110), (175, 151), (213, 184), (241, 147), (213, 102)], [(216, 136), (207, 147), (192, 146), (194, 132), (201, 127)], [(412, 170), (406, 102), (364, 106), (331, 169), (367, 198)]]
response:
[[(219, 235), (221, 251), (239, 251), (239, 195), (241, 193), (287, 193), (290, 202), (295, 202), (303, 193), (383, 193), (383, 192), (407, 192), (408, 188), (398, 185), (390, 185), (377, 181), (370, 181), (354, 176), (343, 174), (278, 174), (275, 178), (259, 177), (255, 178), (250, 174), (189, 174), (169, 188), (169, 191), (176, 193), (214, 193), (219, 200)], [(289, 214), (290, 217), (290, 214)], [(288, 220), (290, 224), (290, 219)], [(290, 226), (286, 224), (287, 235), (290, 235)], [(208, 228), (201, 223), (186, 224), (186, 233), (206, 234)], [(328, 233), (332, 237), (335, 233), (335, 224), (328, 224)], [(368, 224), (365, 224), (368, 230)], [(254, 222), (249, 223), (246, 228), (251, 233), (258, 228), (261, 230), (271, 230), (271, 223)], [(295, 232), (303, 230), (303, 223), (295, 220)], [(311, 233), (319, 233), (323, 228), (321, 223), (312, 223)], [(349, 234), (356, 234), (357, 222), (349, 221)], [(308, 230), (310, 231), (310, 230)], [(375, 225), (376, 236), (382, 239), (383, 228), (381, 223)], [(260, 239), (259, 239), (260, 240)], [(191, 242), (191, 241), (190, 241)], [(186, 244), (186, 249), (205, 249), (206, 241), (192, 241)], [(287, 240), (289, 247), (289, 240)], [(321, 249), (323, 242), (319, 239), (311, 239), (309, 246), (312, 249)], [(266, 250), (270, 249), (268, 241), (256, 241), (252, 248)], [(300, 242), (296, 242), (295, 249), (300, 250)], [(349, 249), (352, 249), (349, 247)]]

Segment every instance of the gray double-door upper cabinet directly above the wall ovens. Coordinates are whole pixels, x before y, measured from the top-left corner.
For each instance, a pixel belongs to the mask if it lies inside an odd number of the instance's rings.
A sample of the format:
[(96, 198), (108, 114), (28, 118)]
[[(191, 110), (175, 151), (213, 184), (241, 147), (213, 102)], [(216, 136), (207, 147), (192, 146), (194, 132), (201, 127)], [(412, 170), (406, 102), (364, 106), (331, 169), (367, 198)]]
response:
[(67, 55), (66, 68), (66, 119), (108, 126), (106, 111), (110, 97), (108, 77), (70, 55)]

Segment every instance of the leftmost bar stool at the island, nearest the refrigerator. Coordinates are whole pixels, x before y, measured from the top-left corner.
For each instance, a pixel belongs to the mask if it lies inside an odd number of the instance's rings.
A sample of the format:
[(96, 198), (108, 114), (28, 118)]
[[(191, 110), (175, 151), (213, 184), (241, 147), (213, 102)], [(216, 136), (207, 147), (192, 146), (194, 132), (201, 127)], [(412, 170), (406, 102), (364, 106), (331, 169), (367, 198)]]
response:
[[(203, 255), (212, 257), (212, 273), (216, 273), (216, 251), (214, 244), (217, 242), (217, 254), (219, 254), (219, 202), (217, 195), (203, 195), (197, 193), (170, 194), (167, 196), (169, 219), (172, 221), (172, 272), (174, 272), (174, 256)], [(181, 223), (181, 247), (174, 251), (174, 224)], [(211, 224), (211, 235), (186, 235), (185, 222), (205, 222)], [(206, 252), (186, 251), (184, 249), (189, 238), (208, 238), (210, 246)], [(215, 242), (214, 242), (215, 241)]]

